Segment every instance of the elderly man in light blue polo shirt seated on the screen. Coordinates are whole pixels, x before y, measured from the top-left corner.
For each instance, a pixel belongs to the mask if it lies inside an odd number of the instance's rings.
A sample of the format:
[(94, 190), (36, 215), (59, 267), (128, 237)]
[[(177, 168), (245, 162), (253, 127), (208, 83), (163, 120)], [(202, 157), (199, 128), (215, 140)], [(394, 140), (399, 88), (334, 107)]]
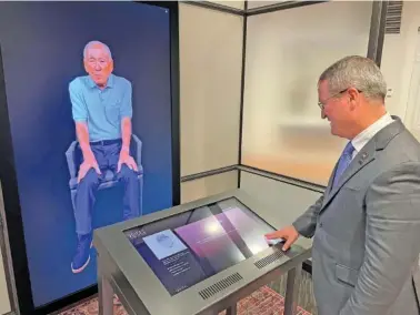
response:
[(124, 184), (123, 219), (139, 216), (138, 166), (130, 155), (131, 83), (112, 74), (111, 51), (102, 42), (89, 42), (83, 51), (86, 77), (70, 82), (69, 92), (76, 133), (83, 155), (78, 174), (74, 217), (78, 247), (73, 273), (90, 261), (92, 207), (107, 170)]

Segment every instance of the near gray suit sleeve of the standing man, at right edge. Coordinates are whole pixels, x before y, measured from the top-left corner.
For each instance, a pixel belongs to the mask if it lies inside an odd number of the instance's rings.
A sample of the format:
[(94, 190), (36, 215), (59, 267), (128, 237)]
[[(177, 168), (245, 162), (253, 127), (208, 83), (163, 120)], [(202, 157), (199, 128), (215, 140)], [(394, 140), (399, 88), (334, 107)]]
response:
[(420, 252), (420, 164), (377, 177), (366, 196), (366, 248), (356, 287), (340, 315), (387, 314)]

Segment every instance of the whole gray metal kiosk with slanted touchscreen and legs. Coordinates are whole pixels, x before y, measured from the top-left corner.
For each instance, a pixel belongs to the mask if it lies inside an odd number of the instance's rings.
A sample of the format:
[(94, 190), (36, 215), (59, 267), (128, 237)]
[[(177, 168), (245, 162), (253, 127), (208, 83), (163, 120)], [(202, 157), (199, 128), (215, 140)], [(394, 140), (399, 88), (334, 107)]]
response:
[(296, 314), (302, 263), (310, 248), (269, 245), (281, 226), (241, 190), (94, 232), (99, 312), (111, 315), (117, 293), (129, 314), (216, 315), (288, 273), (284, 314)]

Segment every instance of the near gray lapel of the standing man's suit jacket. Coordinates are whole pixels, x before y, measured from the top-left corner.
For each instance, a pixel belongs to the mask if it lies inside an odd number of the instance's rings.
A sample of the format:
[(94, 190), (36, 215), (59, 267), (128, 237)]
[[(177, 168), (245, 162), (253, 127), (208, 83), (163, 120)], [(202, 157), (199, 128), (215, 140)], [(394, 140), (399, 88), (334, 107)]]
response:
[(404, 130), (404, 125), (402, 124), (401, 120), (397, 116), (392, 116), (396, 121), (389, 125), (387, 125), (384, 129), (382, 129), (380, 132), (378, 132), (366, 145), (364, 148), (354, 156), (354, 159), (351, 161), (350, 165), (347, 167), (344, 173), (342, 173), (339, 182), (334, 187), (332, 187), (334, 173), (337, 170), (337, 165), (333, 171), (333, 175), (330, 177), (328, 187), (327, 187), (327, 194), (323, 201), (323, 205), (321, 209), (321, 212), (328, 206), (328, 204), (331, 202), (331, 200), (337, 195), (337, 193), (340, 191), (340, 189), (358, 172), (360, 172), (366, 165), (368, 165), (370, 162), (372, 162), (378, 151), (383, 150), (388, 143), (401, 131)]

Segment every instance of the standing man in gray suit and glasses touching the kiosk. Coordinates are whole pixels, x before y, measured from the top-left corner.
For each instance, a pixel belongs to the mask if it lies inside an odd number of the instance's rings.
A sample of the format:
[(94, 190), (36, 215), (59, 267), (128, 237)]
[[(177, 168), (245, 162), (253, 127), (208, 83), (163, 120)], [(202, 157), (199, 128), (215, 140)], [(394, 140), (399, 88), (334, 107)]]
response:
[(323, 195), (291, 226), (266, 235), (313, 237), (320, 315), (414, 315), (420, 252), (420, 145), (387, 113), (387, 84), (362, 57), (329, 67), (318, 84), (322, 118), (349, 142)]

